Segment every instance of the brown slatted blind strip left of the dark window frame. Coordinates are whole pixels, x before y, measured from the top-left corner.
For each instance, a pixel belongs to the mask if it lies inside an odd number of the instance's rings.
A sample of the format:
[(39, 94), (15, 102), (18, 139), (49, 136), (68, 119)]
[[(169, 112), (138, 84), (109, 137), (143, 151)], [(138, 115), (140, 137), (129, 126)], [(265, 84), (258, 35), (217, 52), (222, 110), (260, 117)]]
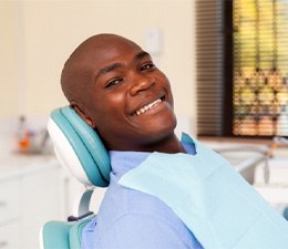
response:
[(223, 1), (197, 0), (196, 85), (198, 135), (223, 135)]

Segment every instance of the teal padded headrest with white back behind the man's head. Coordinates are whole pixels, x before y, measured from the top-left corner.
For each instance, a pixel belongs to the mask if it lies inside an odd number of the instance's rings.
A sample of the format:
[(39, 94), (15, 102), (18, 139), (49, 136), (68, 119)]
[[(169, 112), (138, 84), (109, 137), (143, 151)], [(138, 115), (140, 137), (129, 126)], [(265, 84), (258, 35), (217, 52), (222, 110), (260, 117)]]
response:
[(97, 133), (70, 107), (54, 110), (48, 132), (58, 159), (86, 186), (106, 187), (110, 157)]

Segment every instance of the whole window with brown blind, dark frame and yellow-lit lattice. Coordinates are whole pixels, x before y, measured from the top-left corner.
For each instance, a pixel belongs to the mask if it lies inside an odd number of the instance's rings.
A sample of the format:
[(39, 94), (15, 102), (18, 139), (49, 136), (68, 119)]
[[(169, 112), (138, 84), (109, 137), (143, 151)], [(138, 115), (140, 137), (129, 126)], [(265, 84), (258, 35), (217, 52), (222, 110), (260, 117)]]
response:
[(288, 1), (196, 2), (198, 135), (288, 136)]

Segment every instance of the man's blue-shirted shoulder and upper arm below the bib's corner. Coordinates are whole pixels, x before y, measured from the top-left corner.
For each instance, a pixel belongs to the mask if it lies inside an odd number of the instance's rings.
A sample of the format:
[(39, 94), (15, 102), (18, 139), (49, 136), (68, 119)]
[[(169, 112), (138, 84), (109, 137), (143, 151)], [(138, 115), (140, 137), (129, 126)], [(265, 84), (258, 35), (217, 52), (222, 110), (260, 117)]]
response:
[(106, 191), (94, 236), (103, 248), (130, 248), (128, 245), (135, 248), (137, 243), (141, 248), (152, 245), (158, 245), (155, 248), (184, 248), (194, 240), (192, 232), (162, 200), (124, 188), (116, 181), (112, 181)]

